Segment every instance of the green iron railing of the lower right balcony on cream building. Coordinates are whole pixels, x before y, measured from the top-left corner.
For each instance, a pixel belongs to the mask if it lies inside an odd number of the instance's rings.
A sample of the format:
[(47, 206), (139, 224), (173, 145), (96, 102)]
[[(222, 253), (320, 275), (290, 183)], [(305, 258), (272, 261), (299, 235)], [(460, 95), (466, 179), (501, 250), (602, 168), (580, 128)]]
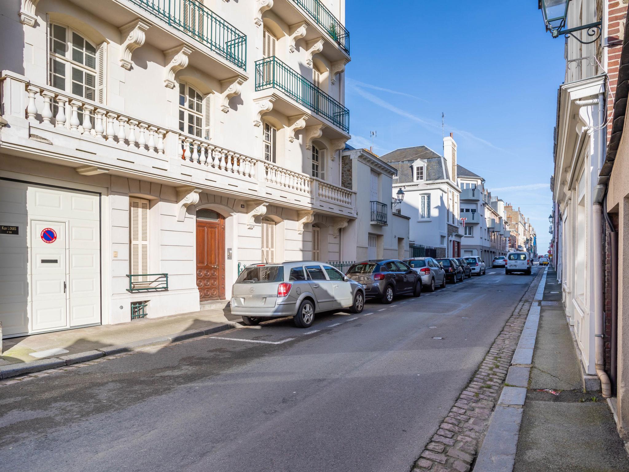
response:
[(344, 132), (350, 129), (350, 111), (277, 57), (255, 62), (255, 90), (279, 89), (289, 97), (325, 116)]

